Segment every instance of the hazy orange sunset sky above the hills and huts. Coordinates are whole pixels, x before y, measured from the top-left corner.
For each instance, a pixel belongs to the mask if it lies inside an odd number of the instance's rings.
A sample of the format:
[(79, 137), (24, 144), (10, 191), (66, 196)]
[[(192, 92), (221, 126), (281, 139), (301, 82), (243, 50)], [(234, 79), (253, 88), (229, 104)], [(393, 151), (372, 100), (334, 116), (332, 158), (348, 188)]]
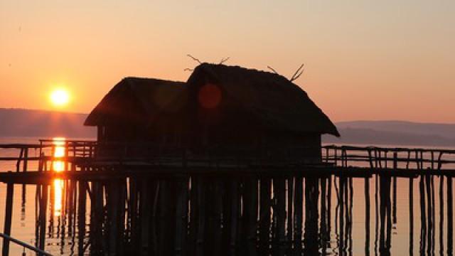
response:
[[(349, 2), (349, 3), (348, 3)], [(455, 1), (0, 0), (0, 107), (90, 112), (125, 76), (196, 63), (296, 80), (333, 121), (455, 122)]]

